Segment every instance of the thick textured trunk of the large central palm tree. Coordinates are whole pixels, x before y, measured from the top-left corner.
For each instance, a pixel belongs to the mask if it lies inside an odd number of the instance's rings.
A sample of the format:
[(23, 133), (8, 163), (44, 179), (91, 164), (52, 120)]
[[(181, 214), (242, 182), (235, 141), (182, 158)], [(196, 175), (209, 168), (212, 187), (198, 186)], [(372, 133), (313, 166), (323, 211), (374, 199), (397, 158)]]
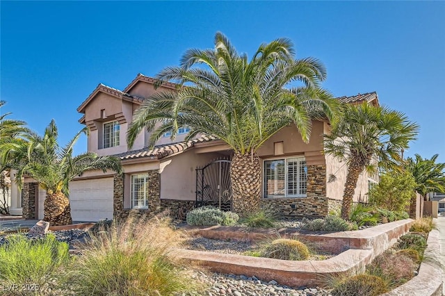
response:
[(240, 215), (259, 211), (261, 165), (259, 157), (235, 154), (230, 164), (232, 210)]

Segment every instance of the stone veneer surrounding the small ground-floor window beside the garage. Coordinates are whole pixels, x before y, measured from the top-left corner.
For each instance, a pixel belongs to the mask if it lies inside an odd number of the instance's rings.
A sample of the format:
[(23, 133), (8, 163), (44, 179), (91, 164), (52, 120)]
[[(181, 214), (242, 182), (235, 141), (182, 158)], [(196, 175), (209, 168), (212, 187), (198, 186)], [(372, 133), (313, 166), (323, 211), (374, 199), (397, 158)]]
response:
[(124, 208), (124, 175), (114, 175), (113, 217), (116, 220), (127, 217), (153, 217), (161, 212), (161, 179), (158, 170), (148, 171), (147, 209)]

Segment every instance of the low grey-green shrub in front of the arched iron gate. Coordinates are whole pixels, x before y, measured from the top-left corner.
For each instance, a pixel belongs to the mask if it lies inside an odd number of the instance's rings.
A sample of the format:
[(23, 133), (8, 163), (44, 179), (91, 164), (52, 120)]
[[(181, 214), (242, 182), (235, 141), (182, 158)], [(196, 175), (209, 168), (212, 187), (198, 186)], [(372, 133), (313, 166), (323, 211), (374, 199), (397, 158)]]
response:
[(239, 216), (232, 212), (223, 212), (219, 208), (203, 206), (187, 213), (187, 224), (196, 226), (234, 225)]

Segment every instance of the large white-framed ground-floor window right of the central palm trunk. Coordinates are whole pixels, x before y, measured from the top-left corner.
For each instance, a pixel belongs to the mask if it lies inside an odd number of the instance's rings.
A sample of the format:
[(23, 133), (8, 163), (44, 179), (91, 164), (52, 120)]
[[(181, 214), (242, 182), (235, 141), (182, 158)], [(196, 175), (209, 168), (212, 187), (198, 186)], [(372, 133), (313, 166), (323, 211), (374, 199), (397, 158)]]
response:
[(306, 197), (306, 188), (304, 157), (264, 161), (264, 197)]

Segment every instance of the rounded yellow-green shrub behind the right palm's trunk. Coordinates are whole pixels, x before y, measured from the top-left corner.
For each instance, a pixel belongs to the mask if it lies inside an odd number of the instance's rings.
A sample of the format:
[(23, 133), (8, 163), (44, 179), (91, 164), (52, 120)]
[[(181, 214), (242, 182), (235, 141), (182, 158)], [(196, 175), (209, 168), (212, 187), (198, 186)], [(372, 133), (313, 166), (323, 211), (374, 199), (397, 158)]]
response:
[(387, 172), (369, 191), (369, 204), (389, 211), (404, 211), (415, 188), (416, 181), (410, 172)]

